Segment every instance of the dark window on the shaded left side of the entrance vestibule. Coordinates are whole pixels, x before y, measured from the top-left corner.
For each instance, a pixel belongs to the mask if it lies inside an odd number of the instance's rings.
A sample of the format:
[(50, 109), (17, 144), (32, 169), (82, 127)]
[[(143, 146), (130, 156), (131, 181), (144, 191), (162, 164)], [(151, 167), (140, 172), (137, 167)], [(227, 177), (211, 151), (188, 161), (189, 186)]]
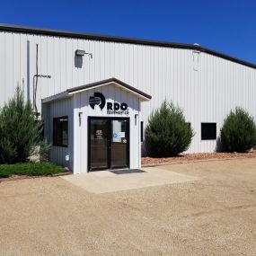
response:
[(53, 146), (68, 146), (68, 118), (53, 119)]

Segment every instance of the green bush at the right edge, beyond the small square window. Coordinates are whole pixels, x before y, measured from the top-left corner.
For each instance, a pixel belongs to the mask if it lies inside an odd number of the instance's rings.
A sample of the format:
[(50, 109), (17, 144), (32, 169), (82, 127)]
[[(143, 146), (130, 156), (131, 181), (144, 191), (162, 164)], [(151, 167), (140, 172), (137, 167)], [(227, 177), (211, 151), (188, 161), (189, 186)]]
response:
[(245, 152), (256, 145), (256, 124), (246, 110), (231, 110), (221, 128), (221, 144), (225, 151)]

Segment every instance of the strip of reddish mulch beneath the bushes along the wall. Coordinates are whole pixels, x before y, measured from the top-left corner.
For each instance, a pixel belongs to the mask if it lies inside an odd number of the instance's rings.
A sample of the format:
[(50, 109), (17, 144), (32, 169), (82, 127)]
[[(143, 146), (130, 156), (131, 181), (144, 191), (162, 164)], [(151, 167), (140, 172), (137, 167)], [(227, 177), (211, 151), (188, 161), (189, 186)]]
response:
[(256, 157), (256, 150), (248, 153), (200, 153), (200, 154), (181, 154), (175, 157), (142, 157), (141, 165), (155, 166), (169, 163), (190, 163), (207, 160), (225, 160), (225, 159), (240, 159)]

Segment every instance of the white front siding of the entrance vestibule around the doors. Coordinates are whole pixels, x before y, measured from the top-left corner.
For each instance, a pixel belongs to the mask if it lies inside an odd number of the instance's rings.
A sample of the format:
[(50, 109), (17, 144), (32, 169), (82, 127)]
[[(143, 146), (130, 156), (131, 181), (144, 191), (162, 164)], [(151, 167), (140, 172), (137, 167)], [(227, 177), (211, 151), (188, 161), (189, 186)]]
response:
[[(102, 93), (106, 102), (126, 102), (128, 104), (128, 115), (107, 114), (106, 107), (101, 110), (95, 106), (93, 110), (89, 105), (89, 97), (94, 92)], [(88, 166), (88, 117), (119, 117), (129, 119), (129, 153), (130, 168), (140, 167), (140, 101), (137, 96), (128, 93), (114, 85), (98, 87), (83, 93), (74, 95), (74, 170), (77, 172), (87, 172)], [(79, 126), (79, 112), (82, 113), (81, 126)], [(135, 121), (137, 115), (137, 122)]]

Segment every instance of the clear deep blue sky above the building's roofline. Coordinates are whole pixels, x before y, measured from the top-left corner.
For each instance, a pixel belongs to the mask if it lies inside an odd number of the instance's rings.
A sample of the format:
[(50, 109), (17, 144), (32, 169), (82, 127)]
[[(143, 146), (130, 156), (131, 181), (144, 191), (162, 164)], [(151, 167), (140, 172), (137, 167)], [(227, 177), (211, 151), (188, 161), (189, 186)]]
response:
[(255, 0), (2, 1), (0, 22), (199, 43), (256, 64)]

